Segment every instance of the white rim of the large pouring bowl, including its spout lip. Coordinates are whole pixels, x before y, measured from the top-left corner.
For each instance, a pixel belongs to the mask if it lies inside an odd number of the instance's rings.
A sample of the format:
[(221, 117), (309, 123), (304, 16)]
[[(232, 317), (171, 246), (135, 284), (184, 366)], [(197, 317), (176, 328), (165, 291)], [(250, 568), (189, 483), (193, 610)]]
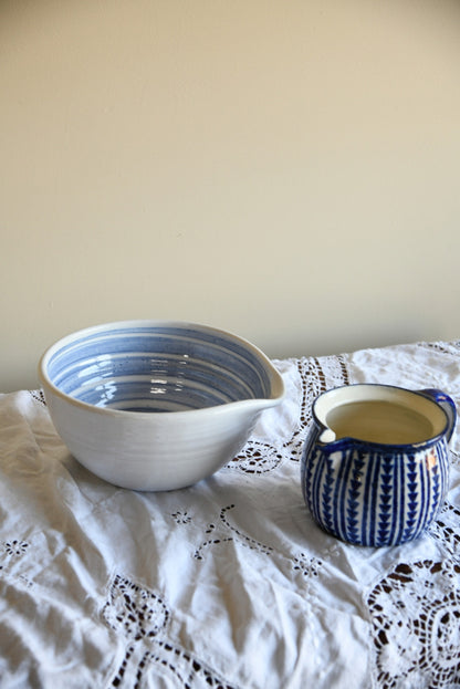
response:
[[(270, 397), (238, 399), (238, 400), (230, 401), (230, 403), (215, 405), (212, 407), (198, 407), (196, 409), (181, 409), (178, 411), (160, 411), (160, 413), (151, 411), (147, 414), (145, 411), (129, 411), (127, 409), (114, 409), (112, 407), (97, 407), (90, 403), (82, 401), (77, 399), (76, 397), (72, 397), (71, 395), (63, 393), (51, 380), (48, 374), (48, 364), (50, 363), (50, 359), (52, 358), (52, 356), (56, 352), (59, 352), (63, 346), (71, 344), (72, 342), (74, 342), (77, 338), (81, 338), (82, 336), (92, 335), (98, 332), (100, 333), (109, 332), (111, 330), (129, 331), (130, 328), (135, 328), (135, 327), (161, 327), (161, 326), (178, 327), (178, 328), (184, 328), (184, 330), (187, 330), (187, 328), (197, 330), (197, 331), (207, 332), (211, 334), (215, 333), (216, 335), (226, 336), (239, 343), (243, 348), (251, 352), (255, 356), (255, 358), (258, 358), (265, 367), (269, 378), (271, 380), (272, 395)], [(231, 331), (223, 330), (220, 327), (215, 327), (212, 325), (207, 325), (207, 324), (198, 323), (194, 321), (168, 320), (168, 319), (134, 319), (134, 320), (126, 320), (126, 321), (109, 321), (106, 323), (90, 325), (87, 327), (83, 327), (77, 331), (67, 333), (66, 335), (63, 335), (59, 340), (54, 341), (51, 345), (49, 345), (44, 349), (38, 363), (38, 376), (39, 376), (40, 384), (43, 388), (43, 392), (45, 394), (45, 397), (46, 397), (46, 389), (48, 389), (49, 392), (51, 392), (53, 395), (61, 398), (65, 403), (74, 407), (81, 408), (82, 410), (83, 409), (91, 410), (93, 413), (102, 414), (106, 416), (119, 416), (124, 418), (138, 418), (138, 419), (148, 419), (148, 418), (151, 419), (151, 418), (159, 418), (159, 417), (178, 418), (184, 415), (186, 415), (187, 418), (189, 418), (191, 415), (202, 415), (202, 414), (220, 415), (220, 414), (227, 413), (230, 407), (232, 408), (253, 407), (254, 405), (257, 405), (260, 410), (263, 410), (264, 408), (278, 406), (279, 404), (281, 404), (281, 401), (284, 399), (286, 395), (286, 389), (285, 389), (284, 380), (283, 380), (281, 373), (275, 368), (275, 366), (270, 361), (270, 358), (266, 356), (266, 354), (264, 354), (262, 349), (260, 349), (249, 340), (245, 340), (244, 337), (241, 337), (240, 335), (237, 335), (236, 333)]]

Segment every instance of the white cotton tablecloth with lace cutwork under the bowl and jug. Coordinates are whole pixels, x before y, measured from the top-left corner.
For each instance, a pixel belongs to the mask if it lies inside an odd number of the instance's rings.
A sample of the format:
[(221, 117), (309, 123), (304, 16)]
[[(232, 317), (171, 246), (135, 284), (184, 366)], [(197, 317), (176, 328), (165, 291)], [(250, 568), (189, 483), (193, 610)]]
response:
[(460, 687), (460, 435), (438, 521), (399, 547), (326, 535), (300, 484), (316, 395), (380, 382), (460, 403), (460, 342), (275, 364), (282, 408), (167, 493), (83, 469), (39, 390), (0, 395), (1, 689)]

